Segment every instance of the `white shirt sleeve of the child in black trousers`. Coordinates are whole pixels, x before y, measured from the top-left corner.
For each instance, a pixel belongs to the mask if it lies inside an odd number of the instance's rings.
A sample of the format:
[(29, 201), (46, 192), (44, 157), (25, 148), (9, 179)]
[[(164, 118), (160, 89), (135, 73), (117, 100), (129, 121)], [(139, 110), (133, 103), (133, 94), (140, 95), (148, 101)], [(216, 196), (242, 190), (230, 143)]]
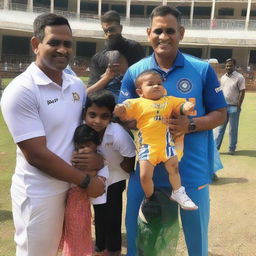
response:
[(132, 137), (121, 125), (117, 126), (115, 136), (113, 136), (113, 147), (123, 157), (134, 157), (136, 154)]

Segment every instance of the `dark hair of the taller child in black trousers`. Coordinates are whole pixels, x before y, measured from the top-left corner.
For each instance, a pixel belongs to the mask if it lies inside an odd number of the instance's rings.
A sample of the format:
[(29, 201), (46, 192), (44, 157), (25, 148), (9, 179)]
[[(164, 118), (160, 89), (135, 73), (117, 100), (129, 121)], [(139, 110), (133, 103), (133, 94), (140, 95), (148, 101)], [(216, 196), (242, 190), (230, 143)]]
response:
[(85, 104), (85, 112), (86, 110), (95, 104), (97, 107), (106, 107), (109, 109), (111, 113), (113, 113), (115, 109), (115, 97), (113, 94), (107, 90), (101, 90), (94, 92), (87, 96), (86, 104)]

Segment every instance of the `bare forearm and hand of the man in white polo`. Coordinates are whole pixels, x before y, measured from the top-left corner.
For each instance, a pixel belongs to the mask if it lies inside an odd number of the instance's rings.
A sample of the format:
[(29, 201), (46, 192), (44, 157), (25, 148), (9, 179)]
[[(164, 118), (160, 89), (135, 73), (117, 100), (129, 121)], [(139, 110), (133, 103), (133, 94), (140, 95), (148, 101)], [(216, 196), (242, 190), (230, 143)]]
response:
[[(86, 174), (70, 166), (46, 146), (44, 136), (17, 143), (28, 163), (42, 172), (62, 181), (81, 185)], [(104, 184), (97, 178), (91, 178), (87, 187), (89, 196), (97, 197), (104, 193)]]

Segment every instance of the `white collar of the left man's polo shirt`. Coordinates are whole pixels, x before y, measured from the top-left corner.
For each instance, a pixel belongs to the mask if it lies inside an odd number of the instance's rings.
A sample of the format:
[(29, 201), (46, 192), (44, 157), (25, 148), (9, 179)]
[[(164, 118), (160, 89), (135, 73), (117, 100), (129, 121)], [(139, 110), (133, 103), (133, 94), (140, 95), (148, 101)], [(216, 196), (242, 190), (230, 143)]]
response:
[[(53, 82), (36, 64), (35, 62), (32, 62), (29, 67), (28, 70), (35, 82), (35, 84), (37, 85), (49, 85), (49, 84), (56, 84), (55, 82)], [(60, 87), (59, 85), (57, 85), (58, 87), (62, 88), (63, 90), (66, 89), (70, 84), (71, 84), (71, 80), (70, 80), (70, 76), (65, 74), (65, 72), (62, 72), (62, 86)]]

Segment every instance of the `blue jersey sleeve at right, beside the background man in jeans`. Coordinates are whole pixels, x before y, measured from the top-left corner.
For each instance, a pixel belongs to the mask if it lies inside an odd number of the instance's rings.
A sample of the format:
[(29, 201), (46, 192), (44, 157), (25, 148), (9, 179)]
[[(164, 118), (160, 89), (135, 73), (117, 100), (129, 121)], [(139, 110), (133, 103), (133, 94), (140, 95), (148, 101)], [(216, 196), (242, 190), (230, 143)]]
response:
[(204, 78), (203, 101), (206, 113), (227, 106), (222, 90), (220, 90), (218, 77), (209, 64)]

